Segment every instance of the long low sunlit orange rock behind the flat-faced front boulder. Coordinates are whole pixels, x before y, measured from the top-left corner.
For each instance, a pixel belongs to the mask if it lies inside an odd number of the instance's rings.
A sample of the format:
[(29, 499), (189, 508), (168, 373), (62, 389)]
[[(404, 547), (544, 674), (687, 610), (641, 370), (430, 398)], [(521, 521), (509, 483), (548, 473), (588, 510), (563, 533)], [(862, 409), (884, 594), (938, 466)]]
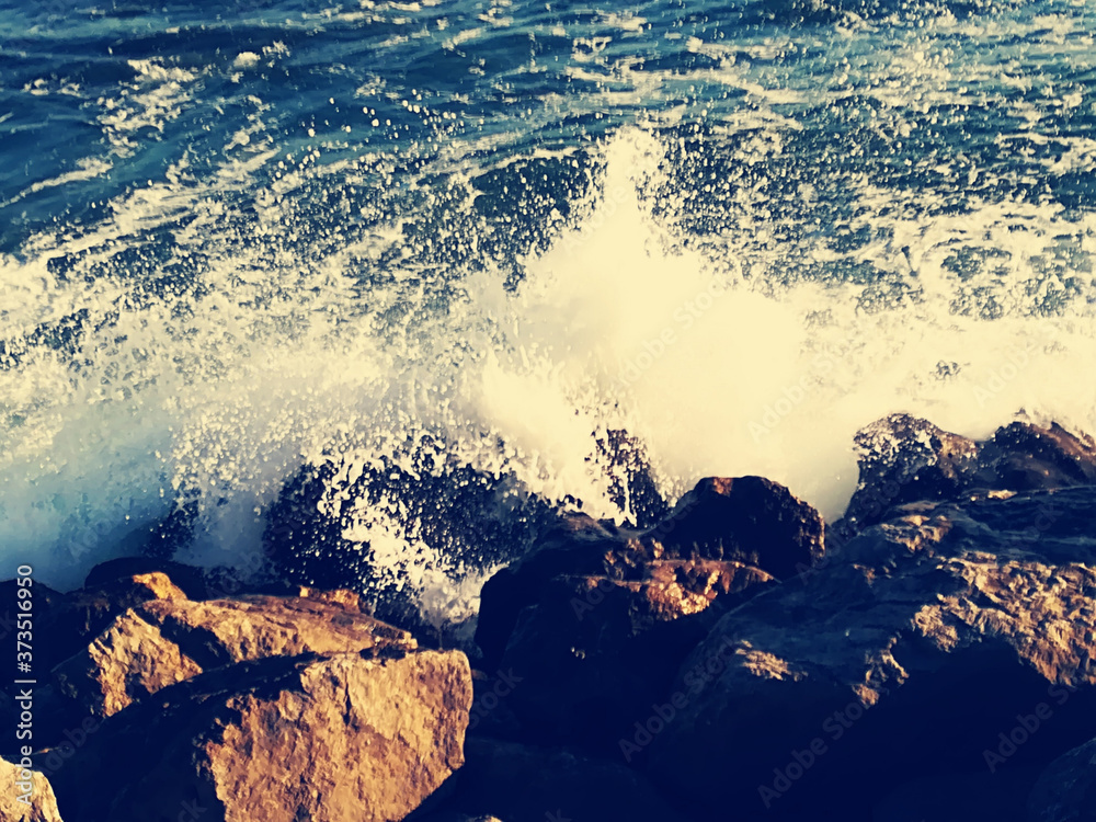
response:
[(415, 648), (407, 631), (362, 614), (356, 595), (350, 592), (207, 602), (186, 600), (178, 590), (176, 594), (145, 602), (118, 616), (55, 669), (57, 692), (78, 704), (84, 715), (107, 717), (168, 685), (221, 665), (308, 652)]

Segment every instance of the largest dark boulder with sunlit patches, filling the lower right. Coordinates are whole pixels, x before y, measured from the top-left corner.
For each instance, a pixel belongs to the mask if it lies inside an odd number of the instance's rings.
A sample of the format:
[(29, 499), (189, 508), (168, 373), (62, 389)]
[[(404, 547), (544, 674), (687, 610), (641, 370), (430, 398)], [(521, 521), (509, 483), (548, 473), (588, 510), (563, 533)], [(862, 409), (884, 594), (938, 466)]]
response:
[[(706, 813), (856, 818), (918, 777), (1096, 735), (1094, 507), (1081, 487), (895, 510), (722, 617), (678, 673), (685, 705), (648, 729), (651, 773), (719, 784), (689, 795)], [(1037, 710), (1052, 720), (993, 758)]]

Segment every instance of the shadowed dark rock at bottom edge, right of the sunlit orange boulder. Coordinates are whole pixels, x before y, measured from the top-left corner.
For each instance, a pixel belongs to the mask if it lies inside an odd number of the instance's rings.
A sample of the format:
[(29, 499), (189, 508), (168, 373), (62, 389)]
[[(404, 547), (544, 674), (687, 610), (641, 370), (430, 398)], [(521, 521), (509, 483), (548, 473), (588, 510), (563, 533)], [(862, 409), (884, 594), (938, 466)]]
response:
[(680, 822), (683, 818), (635, 770), (566, 749), (470, 738), (446, 808), (507, 822)]

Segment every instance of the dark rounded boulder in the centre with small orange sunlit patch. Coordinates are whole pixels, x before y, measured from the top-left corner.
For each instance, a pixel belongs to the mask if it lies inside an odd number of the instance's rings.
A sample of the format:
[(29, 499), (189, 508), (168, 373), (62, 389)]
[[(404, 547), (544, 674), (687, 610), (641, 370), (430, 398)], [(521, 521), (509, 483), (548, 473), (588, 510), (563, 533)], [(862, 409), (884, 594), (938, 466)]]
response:
[(618, 754), (729, 608), (823, 556), (818, 512), (757, 477), (709, 478), (647, 530), (572, 516), (481, 594), (486, 665), (526, 739)]

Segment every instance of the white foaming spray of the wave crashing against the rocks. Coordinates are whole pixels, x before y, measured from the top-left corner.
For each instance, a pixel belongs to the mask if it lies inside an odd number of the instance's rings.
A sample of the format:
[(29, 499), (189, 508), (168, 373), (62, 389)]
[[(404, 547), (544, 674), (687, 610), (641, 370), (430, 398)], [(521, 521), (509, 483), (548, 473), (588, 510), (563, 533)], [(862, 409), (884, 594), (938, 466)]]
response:
[[(663, 147), (651, 134), (620, 134), (603, 151), (595, 193), (548, 253), (526, 261), (516, 294), (488, 266), (447, 310), (427, 307), (413, 256), (391, 282), (354, 277), (399, 247), (399, 224), (278, 267), (241, 251), (284, 230), (294, 192), (332, 173), (307, 163), (255, 195), (242, 244), (221, 228), (233, 207), (225, 192), (253, 168), (241, 159), (213, 182), (176, 169), (174, 181), (112, 203), (94, 236), (42, 237), (25, 262), (0, 262), (5, 329), (119, 311), (76, 357), (32, 346), (0, 370), (4, 566), (32, 562), (43, 582), (78, 585), (181, 492), (202, 507), (198, 539), (180, 559), (240, 562), (260, 550), (262, 511), (302, 463), (332, 452), (370, 459), (409, 432), (444, 432), (484, 470), (613, 515), (592, 433), (623, 426), (647, 444), (671, 496), (703, 476), (758, 473), (833, 518), (856, 480), (853, 434), (883, 414), (907, 411), (972, 436), (1020, 414), (1096, 430), (1092, 275), (1078, 273), (1086, 299), (1062, 317), (1030, 311), (1055, 288), (1055, 275), (1030, 261), (1065, 231), (1096, 251), (1091, 217), (1063, 226), (1049, 207), (1018, 205), (890, 217), (894, 239), (859, 253), (909, 267), (895, 251), (907, 246), (922, 297), (869, 313), (857, 308), (863, 286), (774, 289), (756, 259), (744, 278), (742, 249), (754, 239), (745, 233), (703, 250), (684, 243), (677, 195), (658, 194)], [(669, 219), (651, 217), (657, 197)], [(61, 278), (46, 265), (76, 248), (89, 249), (84, 264), (109, 259), (133, 226), (180, 210), (198, 215), (174, 241), (180, 255), (205, 254), (204, 296), (130, 308), (119, 279)], [(1012, 252), (1011, 275), (986, 283), (1001, 319), (951, 310), (959, 284), (943, 261), (963, 243)], [(778, 273), (778, 249), (766, 264)], [(410, 313), (392, 322), (400, 306)], [(940, 363), (954, 375), (940, 378)], [(484, 444), (495, 437), (502, 448)], [(424, 558), (398, 511), (361, 511), (358, 522), (347, 536), (370, 540), (427, 591), (432, 609), (459, 612), (475, 597), (449, 590), (446, 558)]]

